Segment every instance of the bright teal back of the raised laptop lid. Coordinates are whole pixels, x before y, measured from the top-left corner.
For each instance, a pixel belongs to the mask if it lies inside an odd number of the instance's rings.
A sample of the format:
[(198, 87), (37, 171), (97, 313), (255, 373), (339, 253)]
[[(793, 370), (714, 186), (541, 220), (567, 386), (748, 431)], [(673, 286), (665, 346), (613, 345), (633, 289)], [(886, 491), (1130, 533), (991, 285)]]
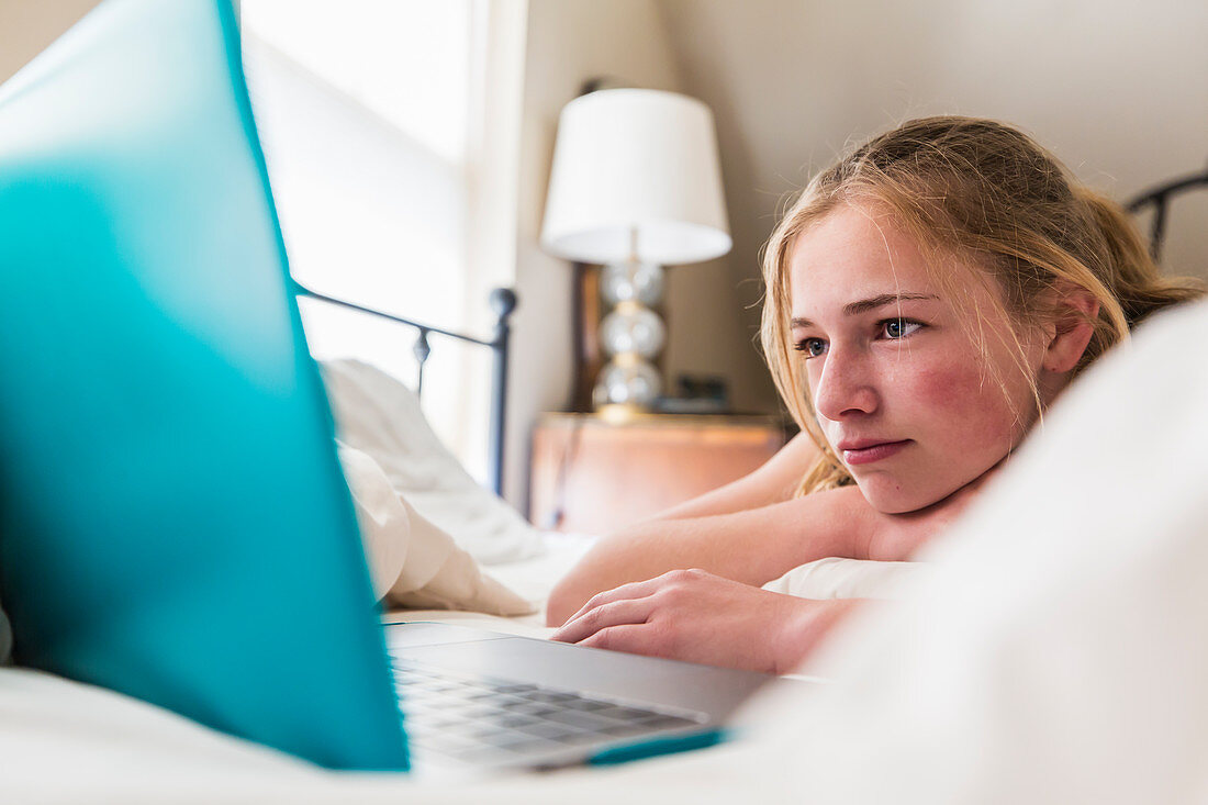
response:
[(0, 88), (13, 656), (406, 768), (239, 52), (230, 0), (106, 0)]

